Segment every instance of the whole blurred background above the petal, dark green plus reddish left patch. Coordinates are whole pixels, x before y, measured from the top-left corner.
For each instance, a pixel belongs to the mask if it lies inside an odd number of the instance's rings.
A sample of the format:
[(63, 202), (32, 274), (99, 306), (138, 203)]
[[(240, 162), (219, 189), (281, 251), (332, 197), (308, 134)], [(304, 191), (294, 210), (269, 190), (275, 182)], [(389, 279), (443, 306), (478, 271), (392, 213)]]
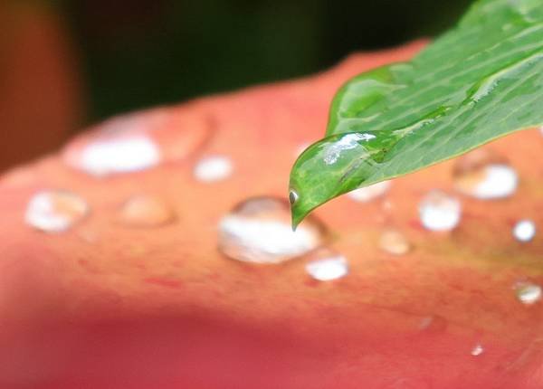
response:
[(0, 171), (112, 115), (432, 37), (470, 0), (0, 0)]

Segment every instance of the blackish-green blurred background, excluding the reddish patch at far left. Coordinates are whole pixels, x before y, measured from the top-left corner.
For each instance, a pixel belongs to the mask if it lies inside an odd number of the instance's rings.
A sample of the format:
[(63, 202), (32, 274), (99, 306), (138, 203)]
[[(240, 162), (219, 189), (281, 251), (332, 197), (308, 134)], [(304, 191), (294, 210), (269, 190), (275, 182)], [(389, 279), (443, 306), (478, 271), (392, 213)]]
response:
[(66, 0), (87, 120), (323, 70), (432, 36), (468, 0)]

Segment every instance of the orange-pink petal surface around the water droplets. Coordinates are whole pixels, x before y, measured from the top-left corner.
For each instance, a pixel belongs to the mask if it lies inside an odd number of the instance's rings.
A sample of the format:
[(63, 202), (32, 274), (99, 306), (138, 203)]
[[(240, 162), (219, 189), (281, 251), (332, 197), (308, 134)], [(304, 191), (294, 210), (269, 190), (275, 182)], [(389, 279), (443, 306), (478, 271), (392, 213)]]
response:
[[(539, 232), (520, 243), (511, 234), (526, 217), (543, 228), (535, 129), (487, 146), (514, 166), (519, 188), (495, 201), (459, 195), (462, 220), (452, 232), (425, 230), (417, 213), (426, 192), (452, 192), (452, 161), (396, 179), (381, 199), (344, 196), (319, 209), (324, 245), (349, 262), (342, 279), (312, 280), (310, 255), (257, 265), (217, 250), (217, 225), (236, 204), (287, 194), (297, 150), (324, 133), (342, 82), (423, 45), (117, 120), (128, 131), (156, 127), (170, 157), (145, 171), (89, 176), (66, 165), (65, 151), (3, 176), (0, 386), (543, 387), (543, 306), (520, 303), (514, 290), (521, 280), (543, 282), (543, 239)], [(76, 142), (93, 135), (82, 137)], [(213, 155), (230, 158), (232, 175), (198, 181), (195, 164)], [(79, 194), (90, 214), (67, 232), (33, 230), (24, 212), (43, 189)], [(119, 207), (135, 194), (162, 199), (175, 222), (119, 223)], [(390, 226), (411, 251), (379, 248)], [(484, 351), (473, 356), (477, 345)]]

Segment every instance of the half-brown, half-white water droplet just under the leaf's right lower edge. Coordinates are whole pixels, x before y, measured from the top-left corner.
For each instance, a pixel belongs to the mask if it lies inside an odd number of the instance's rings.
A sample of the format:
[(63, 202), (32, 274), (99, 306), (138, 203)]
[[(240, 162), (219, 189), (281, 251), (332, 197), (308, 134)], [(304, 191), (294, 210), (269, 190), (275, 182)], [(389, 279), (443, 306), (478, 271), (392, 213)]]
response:
[(509, 197), (518, 185), (515, 169), (487, 149), (459, 158), (454, 168), (455, 188), (481, 200)]

